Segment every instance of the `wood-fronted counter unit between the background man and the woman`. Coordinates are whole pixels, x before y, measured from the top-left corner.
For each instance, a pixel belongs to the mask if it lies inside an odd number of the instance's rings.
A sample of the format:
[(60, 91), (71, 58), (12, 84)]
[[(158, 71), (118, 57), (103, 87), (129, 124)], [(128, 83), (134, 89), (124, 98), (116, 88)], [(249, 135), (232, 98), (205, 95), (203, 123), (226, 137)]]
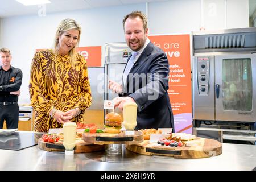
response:
[(19, 130), (22, 131), (33, 131), (34, 129), (34, 118), (32, 106), (19, 105)]

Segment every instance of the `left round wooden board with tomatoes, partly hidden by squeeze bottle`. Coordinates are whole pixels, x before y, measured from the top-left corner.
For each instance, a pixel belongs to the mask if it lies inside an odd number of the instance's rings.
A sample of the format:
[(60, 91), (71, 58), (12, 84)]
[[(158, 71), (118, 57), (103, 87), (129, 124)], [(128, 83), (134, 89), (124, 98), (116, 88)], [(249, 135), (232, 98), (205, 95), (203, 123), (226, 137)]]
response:
[[(65, 151), (65, 147), (63, 146), (63, 142), (55, 142), (49, 143), (44, 142), (42, 138), (38, 139), (38, 147), (42, 150), (46, 151)], [(85, 152), (95, 152), (105, 150), (105, 146), (99, 146), (96, 144), (87, 143), (84, 140), (77, 140), (77, 144), (75, 147), (75, 153), (85, 153)]]

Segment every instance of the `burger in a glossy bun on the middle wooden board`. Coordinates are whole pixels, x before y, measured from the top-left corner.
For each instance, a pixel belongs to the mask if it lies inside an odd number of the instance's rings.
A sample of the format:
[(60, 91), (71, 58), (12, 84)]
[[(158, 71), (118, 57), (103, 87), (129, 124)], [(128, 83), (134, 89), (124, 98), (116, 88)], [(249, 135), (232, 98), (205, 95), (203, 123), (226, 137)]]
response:
[(108, 113), (105, 116), (105, 133), (120, 133), (122, 128), (122, 117), (118, 113)]

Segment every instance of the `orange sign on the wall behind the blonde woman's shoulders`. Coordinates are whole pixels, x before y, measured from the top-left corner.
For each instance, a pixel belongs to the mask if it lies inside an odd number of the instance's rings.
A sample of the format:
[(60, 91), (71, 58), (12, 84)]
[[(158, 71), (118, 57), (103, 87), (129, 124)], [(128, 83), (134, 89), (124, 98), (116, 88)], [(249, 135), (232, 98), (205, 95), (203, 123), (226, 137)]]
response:
[[(43, 49), (36, 49), (36, 52)], [(77, 47), (77, 52), (84, 56), (88, 67), (101, 67), (101, 46)]]

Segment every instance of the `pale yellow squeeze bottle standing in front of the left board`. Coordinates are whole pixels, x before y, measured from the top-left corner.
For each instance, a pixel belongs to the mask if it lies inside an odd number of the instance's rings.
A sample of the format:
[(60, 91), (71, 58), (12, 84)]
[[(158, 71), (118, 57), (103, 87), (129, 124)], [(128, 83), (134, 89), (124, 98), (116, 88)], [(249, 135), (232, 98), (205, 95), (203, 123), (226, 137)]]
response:
[(76, 146), (76, 123), (67, 122), (63, 125), (65, 155), (73, 155)]

